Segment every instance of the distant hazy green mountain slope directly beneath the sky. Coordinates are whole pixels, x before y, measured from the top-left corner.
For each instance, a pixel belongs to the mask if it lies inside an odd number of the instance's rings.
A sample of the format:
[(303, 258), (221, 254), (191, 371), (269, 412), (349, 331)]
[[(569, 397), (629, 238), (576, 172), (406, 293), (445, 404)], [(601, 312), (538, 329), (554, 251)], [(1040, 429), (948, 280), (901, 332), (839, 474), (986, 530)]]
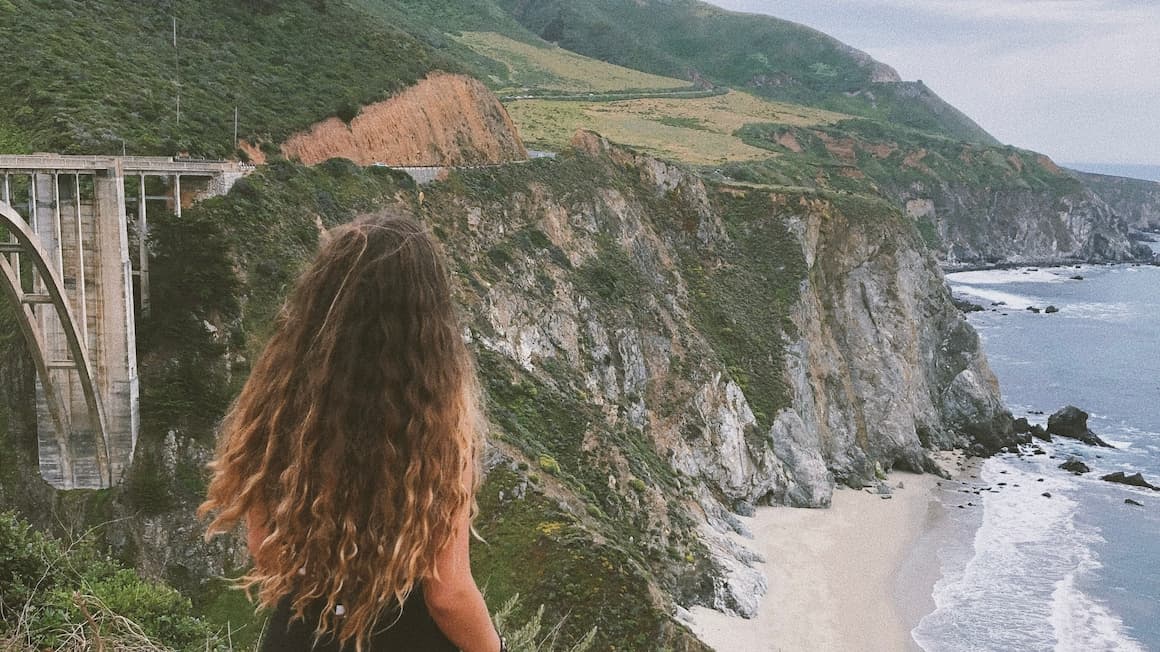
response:
[(679, 79), (696, 71), (715, 84), (786, 102), (995, 143), (921, 82), (875, 82), (884, 71), (789, 21), (695, 0), (496, 2), (544, 41), (595, 59)]

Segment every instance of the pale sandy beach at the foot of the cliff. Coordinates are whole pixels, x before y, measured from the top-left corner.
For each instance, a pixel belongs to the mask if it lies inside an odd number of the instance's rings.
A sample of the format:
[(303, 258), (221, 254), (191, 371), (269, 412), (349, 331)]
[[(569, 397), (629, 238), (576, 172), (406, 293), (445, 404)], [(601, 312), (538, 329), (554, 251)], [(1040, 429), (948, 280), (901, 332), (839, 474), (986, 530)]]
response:
[(940, 577), (930, 536), (945, 519), (938, 481), (891, 473), (890, 499), (842, 488), (829, 509), (759, 508), (745, 520), (753, 539), (739, 538), (766, 559), (757, 616), (697, 607), (690, 626), (719, 652), (919, 650), (909, 632), (934, 609)]

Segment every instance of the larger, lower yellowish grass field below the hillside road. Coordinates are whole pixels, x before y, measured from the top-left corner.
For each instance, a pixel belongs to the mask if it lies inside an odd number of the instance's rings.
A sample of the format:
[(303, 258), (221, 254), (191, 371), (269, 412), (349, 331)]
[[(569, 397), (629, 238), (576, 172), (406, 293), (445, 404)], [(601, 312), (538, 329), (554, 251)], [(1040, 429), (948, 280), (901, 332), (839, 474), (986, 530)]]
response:
[(746, 145), (733, 136), (748, 123), (810, 126), (849, 117), (737, 90), (691, 100), (517, 100), (506, 106), (521, 137), (536, 146), (561, 148), (578, 129), (590, 129), (616, 143), (694, 165), (770, 158), (768, 150)]

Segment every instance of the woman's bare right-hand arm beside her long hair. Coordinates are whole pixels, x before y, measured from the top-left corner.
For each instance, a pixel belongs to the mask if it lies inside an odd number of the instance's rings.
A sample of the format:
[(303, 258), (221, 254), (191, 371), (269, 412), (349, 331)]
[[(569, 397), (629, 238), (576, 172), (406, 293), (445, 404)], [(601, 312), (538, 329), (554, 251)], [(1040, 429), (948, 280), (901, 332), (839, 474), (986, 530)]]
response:
[(451, 543), (435, 558), (440, 579), (423, 582), (423, 599), (432, 618), (463, 652), (499, 652), (500, 637), (492, 625), (484, 596), (471, 577), (467, 548), (471, 522), (463, 510)]

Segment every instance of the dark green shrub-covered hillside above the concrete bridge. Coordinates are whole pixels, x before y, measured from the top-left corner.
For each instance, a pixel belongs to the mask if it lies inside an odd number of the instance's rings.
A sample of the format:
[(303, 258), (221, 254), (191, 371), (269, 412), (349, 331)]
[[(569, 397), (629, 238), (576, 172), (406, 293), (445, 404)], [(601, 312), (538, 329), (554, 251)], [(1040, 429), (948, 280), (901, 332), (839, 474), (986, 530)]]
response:
[(0, 151), (233, 155), (234, 107), (240, 138), (277, 143), (459, 68), (346, 2), (9, 0), (0, 24), (21, 53), (0, 78)]

